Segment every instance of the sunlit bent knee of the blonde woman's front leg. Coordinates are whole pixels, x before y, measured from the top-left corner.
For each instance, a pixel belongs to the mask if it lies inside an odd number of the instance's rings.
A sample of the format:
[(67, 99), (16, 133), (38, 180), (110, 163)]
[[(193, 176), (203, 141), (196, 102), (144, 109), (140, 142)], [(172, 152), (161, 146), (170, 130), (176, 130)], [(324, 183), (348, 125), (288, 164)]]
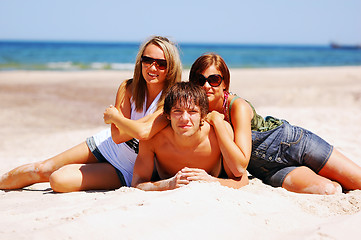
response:
[(71, 172), (71, 169), (64, 166), (50, 175), (49, 183), (54, 192), (66, 193), (78, 191)]

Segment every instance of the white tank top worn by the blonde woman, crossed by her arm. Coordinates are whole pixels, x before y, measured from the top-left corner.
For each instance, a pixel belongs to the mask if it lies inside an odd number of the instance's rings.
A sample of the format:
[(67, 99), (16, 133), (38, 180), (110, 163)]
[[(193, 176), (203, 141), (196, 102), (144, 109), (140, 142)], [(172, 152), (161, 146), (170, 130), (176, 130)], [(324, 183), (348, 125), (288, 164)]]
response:
[[(162, 92), (158, 94), (148, 109), (146, 109), (147, 96), (145, 96), (142, 112), (137, 112), (135, 110), (135, 103), (133, 98), (131, 98), (130, 119), (138, 120), (148, 114), (154, 113), (157, 110), (161, 95)], [(110, 128), (99, 132), (98, 134), (94, 135), (93, 138), (100, 153), (109, 163), (111, 163), (115, 168), (123, 173), (127, 186), (130, 186), (132, 183), (133, 168), (137, 158), (137, 153), (135, 153), (134, 150), (126, 143), (114, 143)]]

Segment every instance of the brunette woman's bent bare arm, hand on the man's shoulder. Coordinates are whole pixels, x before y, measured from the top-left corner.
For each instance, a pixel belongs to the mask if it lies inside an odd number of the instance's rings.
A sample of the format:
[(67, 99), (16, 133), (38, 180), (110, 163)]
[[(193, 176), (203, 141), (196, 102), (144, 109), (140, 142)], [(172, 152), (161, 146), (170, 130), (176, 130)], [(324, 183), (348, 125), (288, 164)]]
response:
[(207, 121), (215, 129), (225, 163), (235, 177), (242, 177), (247, 174), (246, 169), (251, 156), (252, 112), (244, 100), (237, 99), (233, 104), (231, 115), (234, 137), (230, 133), (231, 126), (223, 120), (222, 114), (213, 111), (208, 114)]

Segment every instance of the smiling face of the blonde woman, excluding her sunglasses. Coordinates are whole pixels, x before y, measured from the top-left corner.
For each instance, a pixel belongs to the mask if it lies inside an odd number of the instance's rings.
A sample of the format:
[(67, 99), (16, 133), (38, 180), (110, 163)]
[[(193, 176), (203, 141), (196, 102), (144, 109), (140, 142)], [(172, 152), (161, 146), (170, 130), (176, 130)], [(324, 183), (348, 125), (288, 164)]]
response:
[[(143, 56), (165, 60), (163, 50), (154, 44), (149, 44), (144, 52)], [(147, 84), (163, 84), (166, 78), (167, 69), (161, 70), (158, 65), (153, 62), (152, 64), (142, 63), (142, 74)]]

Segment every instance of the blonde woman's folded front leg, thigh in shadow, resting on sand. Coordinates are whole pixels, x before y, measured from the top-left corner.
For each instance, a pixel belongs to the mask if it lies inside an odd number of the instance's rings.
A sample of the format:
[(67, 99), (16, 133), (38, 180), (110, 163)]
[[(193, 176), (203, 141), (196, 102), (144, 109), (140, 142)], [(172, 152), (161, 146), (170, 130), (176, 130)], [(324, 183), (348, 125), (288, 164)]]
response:
[(121, 187), (115, 168), (109, 163), (70, 164), (50, 176), (55, 192), (110, 190)]

